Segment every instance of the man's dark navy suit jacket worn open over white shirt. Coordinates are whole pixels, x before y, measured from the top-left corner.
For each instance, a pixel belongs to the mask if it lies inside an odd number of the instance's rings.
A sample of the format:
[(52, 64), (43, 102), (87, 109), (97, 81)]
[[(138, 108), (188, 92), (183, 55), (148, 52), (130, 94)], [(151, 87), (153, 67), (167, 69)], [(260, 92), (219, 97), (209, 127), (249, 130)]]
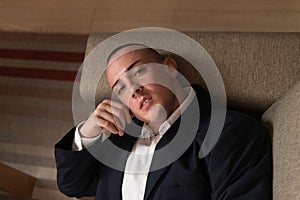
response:
[[(207, 156), (199, 158), (199, 150), (210, 122), (210, 100), (201, 88), (196, 86), (194, 89), (198, 102), (192, 104), (199, 103), (201, 109), (195, 137), (177, 160), (148, 174), (144, 199), (271, 199), (272, 153), (267, 131), (255, 119), (227, 110), (218, 142)], [(185, 114), (199, 115), (190, 107)], [(156, 150), (172, 141), (180, 120), (162, 137)], [(186, 132), (190, 131), (187, 126)], [(55, 145), (60, 191), (72, 197), (122, 199), (123, 172), (99, 162), (87, 149), (71, 151), (74, 132), (75, 128)], [(109, 140), (130, 151), (136, 138), (113, 135)], [(94, 152), (105, 152), (105, 142), (99, 141), (92, 148)], [(127, 156), (114, 155), (110, 159), (125, 167)], [(155, 158), (154, 154), (153, 162), (159, 162)]]

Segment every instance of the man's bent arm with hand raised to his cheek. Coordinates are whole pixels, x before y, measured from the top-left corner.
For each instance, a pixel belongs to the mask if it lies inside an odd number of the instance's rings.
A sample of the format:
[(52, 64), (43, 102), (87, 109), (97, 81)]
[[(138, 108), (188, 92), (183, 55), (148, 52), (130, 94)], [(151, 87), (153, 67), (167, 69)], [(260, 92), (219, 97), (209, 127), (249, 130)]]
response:
[(94, 196), (102, 164), (84, 147), (96, 143), (102, 146), (104, 131), (123, 136), (122, 127), (130, 122), (130, 114), (123, 104), (104, 100), (77, 130), (70, 130), (55, 145), (57, 184), (60, 191), (72, 197)]

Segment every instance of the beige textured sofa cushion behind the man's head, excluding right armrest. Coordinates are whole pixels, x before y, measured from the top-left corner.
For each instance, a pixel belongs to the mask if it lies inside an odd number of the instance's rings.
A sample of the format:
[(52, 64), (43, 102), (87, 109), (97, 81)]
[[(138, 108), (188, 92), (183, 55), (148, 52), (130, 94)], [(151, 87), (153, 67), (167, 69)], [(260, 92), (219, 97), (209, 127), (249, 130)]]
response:
[[(300, 33), (186, 34), (198, 41), (211, 55), (223, 76), (229, 105), (236, 109), (262, 113), (300, 80)], [(86, 53), (111, 35), (90, 35)], [(179, 71), (191, 83), (203, 85), (195, 70), (186, 62), (179, 62)], [(94, 88), (94, 83), (91, 85), (90, 78), (88, 74), (82, 76), (82, 90), (88, 92), (84, 96), (96, 90), (96, 102), (110, 97), (105, 77), (100, 79), (97, 88)]]

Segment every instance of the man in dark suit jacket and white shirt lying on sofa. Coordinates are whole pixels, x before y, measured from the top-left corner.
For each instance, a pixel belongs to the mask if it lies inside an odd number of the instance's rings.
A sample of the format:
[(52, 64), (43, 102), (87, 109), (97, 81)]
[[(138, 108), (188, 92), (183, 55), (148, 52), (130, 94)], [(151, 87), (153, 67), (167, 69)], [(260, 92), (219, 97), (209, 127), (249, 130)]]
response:
[[(111, 53), (106, 76), (119, 101), (102, 101), (86, 122), (56, 144), (57, 181), (63, 193), (113, 200), (271, 199), (266, 130), (254, 119), (227, 110), (218, 142), (200, 158), (210, 121), (209, 95), (199, 86), (183, 88), (177, 75), (174, 59), (144, 45), (128, 44)], [(187, 148), (162, 164), (159, 150), (182, 132), (189, 137), (193, 128), (186, 121), (195, 119), (197, 128)], [(127, 131), (132, 130), (126, 128), (132, 121), (142, 123), (138, 134)], [(112, 134), (103, 141), (105, 132)], [(118, 156), (107, 151), (109, 141), (129, 153)], [(99, 158), (88, 149), (104, 153)], [(176, 149), (167, 151), (165, 159)], [(100, 162), (107, 154), (123, 169)]]

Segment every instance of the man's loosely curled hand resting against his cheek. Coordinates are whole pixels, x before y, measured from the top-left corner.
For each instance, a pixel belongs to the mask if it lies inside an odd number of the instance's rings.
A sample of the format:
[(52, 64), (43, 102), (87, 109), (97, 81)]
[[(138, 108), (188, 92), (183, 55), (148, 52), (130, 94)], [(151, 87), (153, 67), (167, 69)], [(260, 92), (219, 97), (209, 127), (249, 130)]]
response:
[(98, 104), (79, 132), (86, 138), (96, 137), (105, 131), (122, 136), (130, 122), (131, 117), (124, 104), (106, 99)]

